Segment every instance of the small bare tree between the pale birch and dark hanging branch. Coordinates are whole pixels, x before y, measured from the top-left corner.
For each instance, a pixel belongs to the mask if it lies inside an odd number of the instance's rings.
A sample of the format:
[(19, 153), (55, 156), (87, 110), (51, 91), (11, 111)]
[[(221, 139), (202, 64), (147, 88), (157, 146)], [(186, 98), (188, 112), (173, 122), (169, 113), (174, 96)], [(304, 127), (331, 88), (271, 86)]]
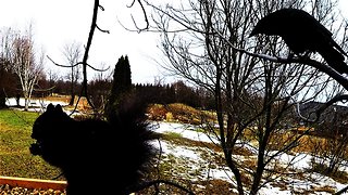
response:
[(80, 79), (80, 67), (77, 65), (80, 62), (83, 52), (80, 49), (80, 43), (73, 42), (71, 44), (64, 46), (63, 54), (67, 61), (67, 65), (71, 66), (71, 72), (69, 74), (69, 80), (71, 81), (71, 100), (69, 105), (74, 105), (76, 95), (76, 84)]

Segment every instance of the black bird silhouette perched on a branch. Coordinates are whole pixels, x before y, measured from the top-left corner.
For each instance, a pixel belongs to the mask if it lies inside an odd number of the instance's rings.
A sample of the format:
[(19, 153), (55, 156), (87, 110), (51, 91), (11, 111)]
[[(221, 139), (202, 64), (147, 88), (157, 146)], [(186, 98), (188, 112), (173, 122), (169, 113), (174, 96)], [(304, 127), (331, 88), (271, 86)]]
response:
[(279, 36), (297, 55), (318, 52), (339, 74), (348, 74), (347, 53), (335, 42), (333, 34), (309, 13), (298, 9), (281, 9), (262, 17), (250, 37), (258, 34)]

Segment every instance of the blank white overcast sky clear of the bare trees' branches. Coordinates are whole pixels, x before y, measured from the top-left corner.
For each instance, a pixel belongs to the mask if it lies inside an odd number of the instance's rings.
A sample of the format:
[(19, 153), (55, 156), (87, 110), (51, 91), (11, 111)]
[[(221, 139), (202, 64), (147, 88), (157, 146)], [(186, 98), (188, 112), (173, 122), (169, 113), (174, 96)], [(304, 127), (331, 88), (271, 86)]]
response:
[[(99, 11), (98, 26), (110, 30), (110, 35), (95, 32), (89, 64), (100, 67), (107, 64), (114, 66), (121, 55), (129, 57), (133, 82), (153, 82), (154, 79), (165, 77), (159, 65), (153, 61), (161, 54), (158, 49), (159, 34), (129, 32), (117, 22), (133, 28), (130, 14), (138, 15), (138, 25), (145, 25), (141, 10), (137, 4), (127, 9), (126, 4), (133, 0), (100, 0), (104, 12)], [(5, 0), (1, 2), (0, 29), (14, 27), (24, 29), (33, 24), (37, 47), (44, 47), (46, 54), (57, 63), (64, 64), (63, 47), (73, 41), (86, 44), (92, 14), (92, 0)], [(348, 10), (348, 1), (340, 0), (340, 8)], [(343, 14), (348, 18), (348, 11)], [(113, 67), (111, 67), (113, 68)], [(46, 69), (58, 69), (47, 61)], [(89, 70), (90, 80), (94, 70)], [(169, 80), (166, 80), (169, 81)]]

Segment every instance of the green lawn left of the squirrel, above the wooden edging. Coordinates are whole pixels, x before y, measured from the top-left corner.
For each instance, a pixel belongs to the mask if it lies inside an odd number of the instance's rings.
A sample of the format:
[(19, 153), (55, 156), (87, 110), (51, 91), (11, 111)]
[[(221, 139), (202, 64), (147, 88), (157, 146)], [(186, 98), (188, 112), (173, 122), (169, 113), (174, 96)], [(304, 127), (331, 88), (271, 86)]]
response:
[(59, 169), (29, 152), (34, 142), (32, 127), (38, 116), (38, 113), (0, 109), (0, 176), (52, 179), (60, 174)]

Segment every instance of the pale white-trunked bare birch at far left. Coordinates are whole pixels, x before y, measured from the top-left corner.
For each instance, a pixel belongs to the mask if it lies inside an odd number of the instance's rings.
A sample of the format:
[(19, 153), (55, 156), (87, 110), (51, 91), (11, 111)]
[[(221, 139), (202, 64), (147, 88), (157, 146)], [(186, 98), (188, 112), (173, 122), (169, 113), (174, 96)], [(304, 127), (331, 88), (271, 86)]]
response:
[(12, 64), (12, 70), (20, 79), (27, 110), (34, 87), (42, 74), (45, 54), (35, 49), (32, 26), (24, 34), (11, 29), (5, 34), (2, 54)]

